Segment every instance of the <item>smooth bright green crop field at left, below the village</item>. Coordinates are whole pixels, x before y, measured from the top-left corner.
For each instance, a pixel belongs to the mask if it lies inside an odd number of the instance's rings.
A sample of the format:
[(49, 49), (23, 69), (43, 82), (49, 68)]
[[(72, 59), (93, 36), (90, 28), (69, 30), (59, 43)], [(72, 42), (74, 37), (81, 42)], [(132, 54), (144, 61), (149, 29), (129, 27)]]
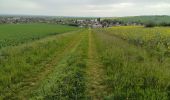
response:
[(76, 29), (76, 27), (55, 24), (0, 25), (0, 49), (2, 47), (15, 46)]

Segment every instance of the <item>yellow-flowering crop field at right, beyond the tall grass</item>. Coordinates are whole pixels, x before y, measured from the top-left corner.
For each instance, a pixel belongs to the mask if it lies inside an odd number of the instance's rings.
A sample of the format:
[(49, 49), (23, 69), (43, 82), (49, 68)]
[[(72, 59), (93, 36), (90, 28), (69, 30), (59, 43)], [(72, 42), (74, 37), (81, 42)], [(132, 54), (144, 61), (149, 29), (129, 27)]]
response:
[(170, 31), (169, 28), (156, 27), (115, 27), (106, 29), (115, 35), (138, 47), (145, 48), (150, 56), (157, 56), (159, 62), (164, 62), (170, 57)]

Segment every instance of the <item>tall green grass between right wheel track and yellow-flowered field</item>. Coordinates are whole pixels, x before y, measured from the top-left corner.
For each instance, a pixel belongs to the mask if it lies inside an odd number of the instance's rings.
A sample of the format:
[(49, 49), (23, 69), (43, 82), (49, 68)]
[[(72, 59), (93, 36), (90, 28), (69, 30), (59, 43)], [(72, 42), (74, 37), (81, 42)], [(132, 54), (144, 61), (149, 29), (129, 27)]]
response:
[(105, 66), (105, 84), (110, 91), (105, 99), (170, 99), (169, 60), (160, 63), (146, 50), (108, 35), (104, 30), (94, 30), (93, 33)]

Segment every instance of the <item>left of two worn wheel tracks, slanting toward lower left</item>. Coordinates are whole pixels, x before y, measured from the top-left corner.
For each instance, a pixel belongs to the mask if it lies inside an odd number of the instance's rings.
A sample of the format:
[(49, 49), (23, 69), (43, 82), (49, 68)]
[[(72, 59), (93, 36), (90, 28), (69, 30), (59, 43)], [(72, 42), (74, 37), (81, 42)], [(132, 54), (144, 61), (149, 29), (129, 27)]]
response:
[(27, 79), (24, 84), (24, 87), (20, 89), (20, 91), (16, 94), (18, 95), (17, 98), (21, 100), (27, 100), (29, 93), (31, 93), (32, 90), (36, 89), (37, 86), (41, 83), (43, 79), (48, 76), (49, 73), (53, 71), (54, 66), (59, 63), (62, 58), (64, 58), (68, 53), (70, 53), (70, 49), (74, 48), (78, 41), (81, 40), (81, 36), (79, 35), (78, 37), (74, 38), (65, 48), (64, 51), (57, 52), (56, 56), (52, 59), (51, 62), (47, 63), (43, 70), (36, 75), (35, 77), (32, 77), (30, 79)]

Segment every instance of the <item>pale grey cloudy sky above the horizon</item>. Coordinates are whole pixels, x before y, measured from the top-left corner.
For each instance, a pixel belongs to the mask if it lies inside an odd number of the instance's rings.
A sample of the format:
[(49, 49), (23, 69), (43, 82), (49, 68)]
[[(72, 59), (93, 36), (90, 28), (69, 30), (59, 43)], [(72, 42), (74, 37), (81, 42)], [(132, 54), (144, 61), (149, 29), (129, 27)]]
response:
[(84, 17), (170, 15), (170, 0), (0, 0), (0, 14)]

